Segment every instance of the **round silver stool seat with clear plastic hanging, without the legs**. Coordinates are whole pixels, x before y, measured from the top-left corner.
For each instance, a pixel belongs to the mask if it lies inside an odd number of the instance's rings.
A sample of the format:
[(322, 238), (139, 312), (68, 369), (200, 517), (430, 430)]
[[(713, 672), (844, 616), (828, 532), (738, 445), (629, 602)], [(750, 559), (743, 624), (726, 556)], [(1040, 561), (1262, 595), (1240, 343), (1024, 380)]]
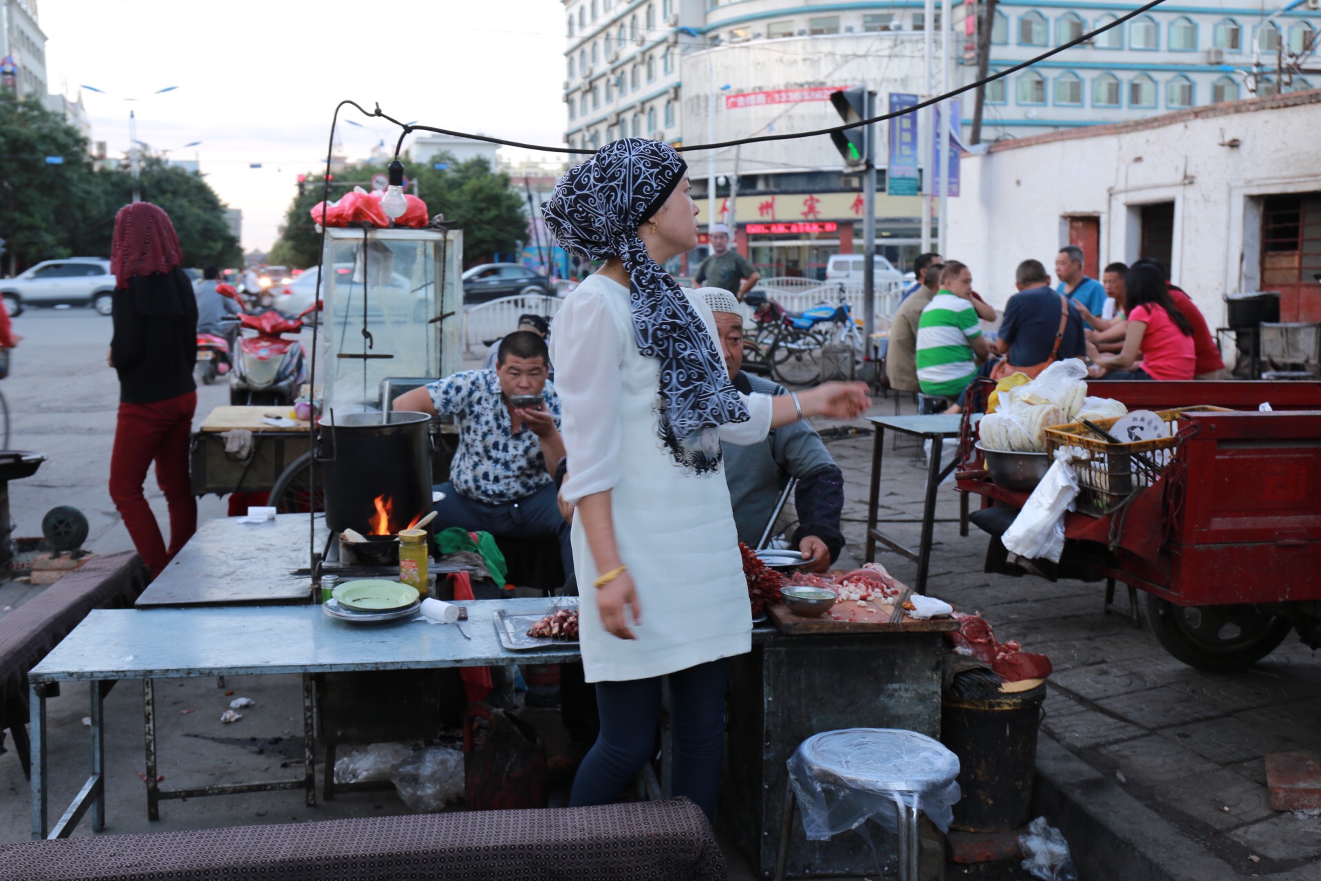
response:
[(848, 728), (808, 737), (789, 759), (789, 779), (808, 840), (824, 841), (876, 820), (898, 831), (898, 807), (915, 807), (947, 832), (959, 800), (959, 758), (917, 732)]

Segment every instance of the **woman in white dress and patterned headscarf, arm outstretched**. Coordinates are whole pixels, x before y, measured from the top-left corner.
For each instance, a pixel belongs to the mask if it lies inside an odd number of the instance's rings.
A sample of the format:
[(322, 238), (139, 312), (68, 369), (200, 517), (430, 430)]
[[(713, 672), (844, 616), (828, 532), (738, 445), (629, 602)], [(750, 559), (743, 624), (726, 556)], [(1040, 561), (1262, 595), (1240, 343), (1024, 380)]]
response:
[[(741, 395), (705, 302), (660, 263), (697, 244), (687, 165), (624, 139), (571, 169), (543, 213), (565, 250), (605, 260), (564, 301), (551, 359), (576, 506), (580, 639), (601, 734), (571, 804), (613, 802), (655, 745), (668, 678), (674, 794), (715, 814), (728, 658), (752, 649), (752, 616), (720, 442), (754, 444), (804, 416), (852, 417), (861, 383)], [(645, 612), (643, 612), (645, 610)]]

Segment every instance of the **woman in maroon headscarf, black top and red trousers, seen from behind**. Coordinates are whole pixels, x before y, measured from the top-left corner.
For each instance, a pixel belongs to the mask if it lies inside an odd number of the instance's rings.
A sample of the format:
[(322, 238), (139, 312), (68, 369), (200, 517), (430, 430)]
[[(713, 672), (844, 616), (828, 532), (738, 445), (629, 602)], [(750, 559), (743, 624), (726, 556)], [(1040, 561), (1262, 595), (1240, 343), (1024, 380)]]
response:
[[(160, 575), (197, 530), (188, 442), (197, 409), (197, 300), (169, 215), (149, 202), (115, 215), (115, 335), (110, 365), (119, 374), (119, 423), (110, 458), (110, 497), (137, 553)], [(147, 469), (169, 506), (169, 548), (143, 497)]]

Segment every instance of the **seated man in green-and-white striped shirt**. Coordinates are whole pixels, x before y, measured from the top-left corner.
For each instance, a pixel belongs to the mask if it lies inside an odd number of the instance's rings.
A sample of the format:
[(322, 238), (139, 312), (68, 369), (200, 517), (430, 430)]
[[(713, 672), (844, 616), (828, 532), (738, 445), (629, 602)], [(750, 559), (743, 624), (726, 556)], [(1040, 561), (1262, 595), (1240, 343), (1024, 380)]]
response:
[[(922, 309), (917, 325), (917, 379), (923, 395), (958, 398), (978, 375), (989, 346), (972, 306), (972, 271), (950, 260), (941, 291)], [(959, 412), (952, 408), (947, 412)]]

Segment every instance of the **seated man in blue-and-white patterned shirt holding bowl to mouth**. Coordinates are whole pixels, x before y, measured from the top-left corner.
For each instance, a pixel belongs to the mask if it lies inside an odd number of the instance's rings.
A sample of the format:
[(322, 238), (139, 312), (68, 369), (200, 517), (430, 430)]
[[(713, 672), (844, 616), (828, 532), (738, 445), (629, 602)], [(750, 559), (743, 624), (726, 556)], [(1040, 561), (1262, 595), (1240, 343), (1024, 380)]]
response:
[[(458, 450), (449, 481), (436, 489), (437, 531), (458, 526), (498, 542), (557, 539), (565, 575), (573, 573), (569, 526), (556, 505), (553, 473), (564, 457), (560, 399), (547, 380), (546, 341), (517, 330), (501, 341), (494, 370), (465, 370), (406, 392), (395, 409), (453, 416)], [(535, 407), (511, 398), (535, 395)]]

